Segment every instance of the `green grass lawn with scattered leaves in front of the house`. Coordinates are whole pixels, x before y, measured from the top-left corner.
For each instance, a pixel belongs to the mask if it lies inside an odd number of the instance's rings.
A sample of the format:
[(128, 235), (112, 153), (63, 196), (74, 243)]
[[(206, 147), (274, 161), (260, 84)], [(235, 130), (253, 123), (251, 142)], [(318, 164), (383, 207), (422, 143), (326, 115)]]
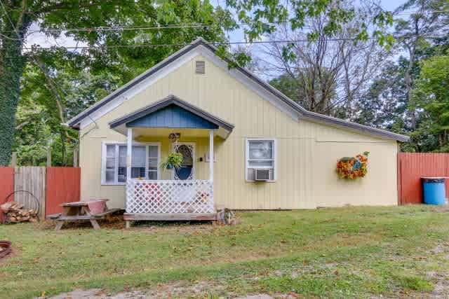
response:
[[(63, 291), (207, 284), (200, 293), (307, 297), (449, 295), (449, 211), (347, 207), (237, 214), (241, 223), (1, 225), (13, 256), (0, 261), (0, 298)], [(203, 293), (201, 293), (203, 292)]]

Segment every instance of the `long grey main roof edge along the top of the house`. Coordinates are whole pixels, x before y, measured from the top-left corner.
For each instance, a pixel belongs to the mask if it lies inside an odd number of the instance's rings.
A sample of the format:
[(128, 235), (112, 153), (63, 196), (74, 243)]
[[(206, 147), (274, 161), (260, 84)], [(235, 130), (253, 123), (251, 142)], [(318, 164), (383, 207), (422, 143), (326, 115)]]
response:
[[(171, 62), (174, 62), (178, 58), (182, 57), (183, 55), (189, 53), (190, 51), (194, 50), (195, 48), (197, 48), (199, 46), (203, 46), (203, 47), (207, 48), (212, 53), (216, 53), (216, 51), (217, 51), (217, 48), (215, 48), (211, 43), (208, 43), (206, 40), (204, 40), (203, 38), (200, 37), (199, 39), (196, 39), (189, 45), (185, 46), (181, 50), (174, 53), (173, 55), (170, 55), (165, 60), (159, 62), (151, 69), (145, 71), (140, 76), (138, 76), (138, 77), (134, 78), (133, 80), (131, 80), (130, 82), (126, 83), (118, 90), (112, 92), (110, 95), (108, 95), (107, 97), (102, 99), (100, 102), (93, 104), (91, 107), (89, 107), (85, 111), (79, 113), (77, 116), (75, 116), (74, 118), (69, 120), (67, 122), (67, 125), (69, 125), (70, 127), (79, 128), (79, 125), (81, 123), (81, 120), (83, 120), (83, 118), (88, 117), (91, 113), (97, 111), (102, 106), (105, 106), (105, 104), (111, 102), (113, 99), (116, 99), (117, 97), (122, 95), (124, 92), (133, 88), (138, 83), (144, 81), (149, 76), (152, 76), (152, 74), (155, 74), (157, 71), (160, 71), (161, 69), (166, 67)], [(227, 60), (227, 58), (224, 58), (224, 60), (226, 62), (229, 62), (229, 60)], [(319, 122), (319, 123), (325, 123), (328, 125), (345, 127), (345, 128), (351, 129), (351, 130), (356, 130), (359, 132), (363, 132), (365, 134), (372, 134), (377, 137), (382, 137), (382, 138), (386, 138), (386, 139), (394, 139), (397, 141), (408, 141), (408, 139), (410, 139), (410, 137), (408, 137), (406, 135), (396, 134), (394, 132), (389, 132), (387, 130), (381, 130), (381, 129), (377, 129), (375, 127), (368, 127), (366, 125), (352, 123), (347, 120), (342, 120), (340, 118), (333, 118), (331, 116), (325, 116), (320, 113), (314, 113), (311, 111), (307, 111), (306, 109), (304, 109), (304, 107), (300, 106), (300, 104), (297, 104), (296, 102), (294, 102), (292, 99), (290, 99), (286, 95), (283, 95), (282, 92), (280, 92), (279, 90), (276, 90), (276, 88), (272, 87), (272, 85), (269, 85), (269, 83), (263, 81), (261, 78), (258, 78), (257, 76), (255, 76), (255, 74), (252, 74), (247, 69), (244, 69), (243, 67), (236, 67), (236, 70), (239, 71), (244, 76), (246, 76), (248, 79), (250, 79), (250, 81), (257, 83), (257, 85), (260, 86), (260, 88), (269, 92), (269, 94), (274, 95), (276, 100), (278, 100), (279, 102), (282, 102), (283, 104), (286, 104), (286, 106), (288, 106), (292, 111), (297, 113), (302, 118), (305, 118), (305, 119), (308, 119), (311, 121), (315, 121), (315, 122)]]

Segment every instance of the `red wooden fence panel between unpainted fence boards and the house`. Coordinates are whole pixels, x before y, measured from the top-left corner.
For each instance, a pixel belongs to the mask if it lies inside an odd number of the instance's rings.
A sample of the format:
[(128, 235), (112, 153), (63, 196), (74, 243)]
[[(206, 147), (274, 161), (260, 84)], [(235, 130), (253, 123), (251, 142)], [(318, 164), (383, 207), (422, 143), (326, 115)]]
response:
[(62, 212), (62, 203), (80, 200), (81, 168), (47, 167), (46, 180), (46, 216)]

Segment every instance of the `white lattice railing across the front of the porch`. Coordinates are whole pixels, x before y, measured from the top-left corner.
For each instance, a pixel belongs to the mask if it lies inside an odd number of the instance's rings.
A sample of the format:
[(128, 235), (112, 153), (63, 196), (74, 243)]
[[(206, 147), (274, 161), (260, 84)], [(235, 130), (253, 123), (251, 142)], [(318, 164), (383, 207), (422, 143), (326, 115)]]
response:
[(214, 213), (213, 182), (208, 180), (128, 179), (126, 213)]

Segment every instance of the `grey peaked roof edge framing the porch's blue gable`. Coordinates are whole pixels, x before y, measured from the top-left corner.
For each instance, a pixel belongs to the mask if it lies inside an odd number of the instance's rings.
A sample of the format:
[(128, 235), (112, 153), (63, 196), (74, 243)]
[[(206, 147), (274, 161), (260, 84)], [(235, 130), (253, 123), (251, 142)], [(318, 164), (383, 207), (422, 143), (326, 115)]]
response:
[(116, 120), (112, 120), (112, 122), (109, 123), (109, 127), (113, 129), (114, 127), (119, 127), (120, 125), (133, 123), (142, 117), (149, 116), (157, 111), (161, 111), (161, 109), (165, 109), (170, 105), (180, 107), (185, 111), (188, 111), (189, 113), (192, 113), (195, 116), (198, 116), (203, 120), (206, 120), (208, 123), (213, 124), (216, 127), (222, 127), (228, 132), (231, 132), (234, 129), (234, 125), (227, 123), (225, 120), (222, 120), (221, 118), (217, 118), (217, 116), (213, 116), (212, 114), (208, 113), (207, 111), (204, 111), (203, 109), (200, 109), (197, 106), (194, 106), (188, 102), (183, 101), (182, 99), (176, 97), (175, 95), (169, 95), (168, 97), (161, 99), (160, 101), (155, 102), (149, 106), (146, 106), (142, 109), (129, 113), (126, 116), (122, 116), (121, 118), (118, 118)]

